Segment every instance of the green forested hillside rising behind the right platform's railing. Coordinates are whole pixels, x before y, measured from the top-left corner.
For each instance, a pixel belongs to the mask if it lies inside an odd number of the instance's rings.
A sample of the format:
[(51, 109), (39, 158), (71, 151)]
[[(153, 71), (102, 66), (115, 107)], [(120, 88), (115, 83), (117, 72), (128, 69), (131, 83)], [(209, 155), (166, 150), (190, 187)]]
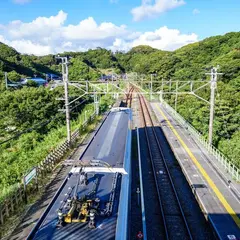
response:
[[(213, 144), (240, 167), (240, 32), (207, 38), (174, 52), (163, 52), (142, 46), (117, 59), (124, 69), (140, 74), (156, 73), (161, 80), (205, 80), (210, 67), (220, 66), (223, 73), (216, 92)], [(208, 69), (206, 71), (206, 68)], [(210, 88), (198, 91), (209, 100)], [(173, 103), (175, 96), (165, 96)], [(206, 138), (209, 105), (194, 96), (178, 97), (178, 112)]]

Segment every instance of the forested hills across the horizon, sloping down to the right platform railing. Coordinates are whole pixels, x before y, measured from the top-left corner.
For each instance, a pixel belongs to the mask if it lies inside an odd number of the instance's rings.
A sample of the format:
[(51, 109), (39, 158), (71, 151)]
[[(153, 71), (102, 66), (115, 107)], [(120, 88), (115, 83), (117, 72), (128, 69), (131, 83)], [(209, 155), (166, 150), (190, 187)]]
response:
[[(65, 54), (72, 56), (70, 80), (96, 80), (102, 73), (111, 71), (137, 72), (147, 76), (157, 73), (156, 79), (201, 80), (208, 77), (206, 68), (219, 65), (224, 75), (219, 79), (216, 94), (214, 145), (240, 165), (240, 32), (210, 37), (173, 52), (138, 46), (127, 53), (98, 48)], [(52, 55), (22, 55), (0, 44), (0, 77), (4, 71), (10, 72), (9, 78), (17, 81), (22, 76), (59, 73), (60, 69)], [(208, 99), (209, 87), (199, 94)], [(171, 101), (171, 97), (167, 97)], [(205, 102), (182, 96), (179, 97), (178, 111), (207, 136), (209, 106)]]

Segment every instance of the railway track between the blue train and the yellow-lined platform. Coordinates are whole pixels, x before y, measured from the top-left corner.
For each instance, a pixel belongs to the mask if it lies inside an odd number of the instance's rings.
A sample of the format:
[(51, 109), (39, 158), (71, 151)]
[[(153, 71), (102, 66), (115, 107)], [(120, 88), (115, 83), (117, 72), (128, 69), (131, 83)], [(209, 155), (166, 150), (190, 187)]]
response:
[[(144, 189), (148, 239), (193, 239), (144, 97), (138, 94), (150, 161)], [(144, 176), (144, 174), (143, 174)], [(146, 176), (145, 176), (146, 178)], [(147, 199), (146, 199), (147, 198)], [(153, 209), (154, 208), (154, 209)], [(151, 219), (147, 219), (147, 218)]]

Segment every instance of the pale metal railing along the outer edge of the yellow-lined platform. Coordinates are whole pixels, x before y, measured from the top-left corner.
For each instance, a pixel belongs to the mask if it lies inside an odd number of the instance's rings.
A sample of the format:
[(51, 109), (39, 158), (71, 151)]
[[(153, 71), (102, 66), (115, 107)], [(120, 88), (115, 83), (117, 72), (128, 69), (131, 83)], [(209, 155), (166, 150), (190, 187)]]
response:
[(179, 113), (177, 113), (168, 103), (164, 100), (162, 104), (166, 107), (166, 109), (172, 113), (173, 117), (185, 126), (188, 131), (196, 137), (196, 139), (208, 150), (210, 154), (212, 154), (217, 161), (222, 165), (222, 167), (227, 171), (235, 180), (240, 181), (240, 169), (238, 169), (226, 156), (223, 155), (218, 149), (216, 149), (213, 145), (209, 145), (206, 139), (199, 133), (191, 124), (189, 124)]

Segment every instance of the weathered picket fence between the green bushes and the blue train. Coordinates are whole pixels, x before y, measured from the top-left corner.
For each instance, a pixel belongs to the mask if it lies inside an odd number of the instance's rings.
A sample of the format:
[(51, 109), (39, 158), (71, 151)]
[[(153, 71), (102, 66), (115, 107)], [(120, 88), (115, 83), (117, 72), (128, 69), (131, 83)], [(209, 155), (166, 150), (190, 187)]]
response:
[[(94, 112), (85, 119), (82, 127), (84, 128), (90, 121), (94, 119), (96, 113)], [(80, 135), (80, 130), (77, 129), (72, 133), (72, 143), (76, 142)], [(37, 166), (37, 179), (41, 181), (46, 175), (52, 172), (54, 166), (60, 162), (64, 154), (69, 150), (70, 146), (67, 140), (54, 149), (41, 163)], [(37, 188), (34, 188), (37, 191)], [(4, 224), (6, 219), (14, 214), (15, 210), (26, 201), (26, 190), (23, 184), (18, 184), (17, 189), (0, 205), (0, 225)]]

